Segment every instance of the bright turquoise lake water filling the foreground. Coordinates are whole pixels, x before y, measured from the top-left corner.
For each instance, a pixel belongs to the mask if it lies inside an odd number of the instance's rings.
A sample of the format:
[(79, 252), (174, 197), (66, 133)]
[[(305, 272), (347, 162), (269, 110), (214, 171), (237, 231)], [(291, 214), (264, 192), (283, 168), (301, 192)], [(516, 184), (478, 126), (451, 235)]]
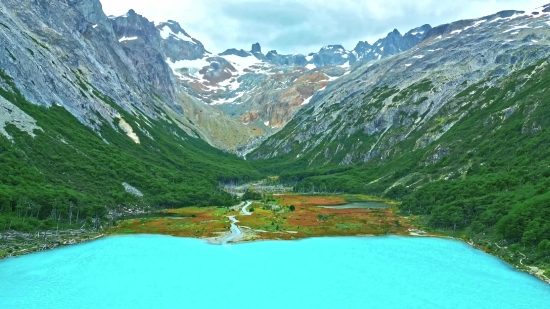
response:
[(1, 261), (0, 308), (547, 309), (550, 286), (451, 240), (142, 235)]

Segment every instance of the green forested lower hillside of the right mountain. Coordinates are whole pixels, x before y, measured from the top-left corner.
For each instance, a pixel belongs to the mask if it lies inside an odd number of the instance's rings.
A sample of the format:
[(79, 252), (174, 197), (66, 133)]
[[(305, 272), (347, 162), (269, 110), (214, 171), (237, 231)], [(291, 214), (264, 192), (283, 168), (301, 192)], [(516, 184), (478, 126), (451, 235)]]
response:
[[(548, 262), (550, 66), (542, 60), (498, 87), (485, 85), (471, 85), (452, 99), (449, 106), (460, 106), (458, 114), (469, 109), (468, 116), (426, 148), (415, 149), (414, 141), (426, 133), (419, 130), (392, 155), (357, 166), (308, 167), (308, 156), (255, 164), (298, 181), (301, 190), (399, 200), (402, 212), (423, 216), (432, 229), (517, 244)], [(438, 117), (447, 113), (443, 109)]]

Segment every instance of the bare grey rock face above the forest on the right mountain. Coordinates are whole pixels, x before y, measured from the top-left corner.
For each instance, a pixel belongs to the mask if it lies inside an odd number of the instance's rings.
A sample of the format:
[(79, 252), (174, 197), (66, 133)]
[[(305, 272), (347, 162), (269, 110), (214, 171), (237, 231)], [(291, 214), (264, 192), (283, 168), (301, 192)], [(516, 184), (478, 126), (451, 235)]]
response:
[[(534, 74), (548, 65), (549, 23), (550, 13), (541, 8), (421, 27), (403, 37), (394, 31), (379, 42), (384, 51), (393, 53), (424, 39), (413, 50), (359, 64), (316, 92), (306, 108), (279, 133), (255, 144), (247, 158), (285, 155), (307, 158), (314, 166), (347, 165), (438, 143), (457, 122), (491, 104), (486, 93), (505, 89), (520, 70), (531, 68)], [(359, 44), (364, 52), (358, 55), (372, 53), (371, 47)], [(377, 57), (383, 58), (384, 51), (380, 47)], [(529, 75), (514, 78), (518, 85), (506, 90), (506, 97), (514, 96)], [(521, 108), (498, 111), (486, 123), (505, 121)], [(536, 128), (526, 117), (525, 132)], [(426, 164), (449, 151), (448, 145), (438, 145), (427, 154)]]

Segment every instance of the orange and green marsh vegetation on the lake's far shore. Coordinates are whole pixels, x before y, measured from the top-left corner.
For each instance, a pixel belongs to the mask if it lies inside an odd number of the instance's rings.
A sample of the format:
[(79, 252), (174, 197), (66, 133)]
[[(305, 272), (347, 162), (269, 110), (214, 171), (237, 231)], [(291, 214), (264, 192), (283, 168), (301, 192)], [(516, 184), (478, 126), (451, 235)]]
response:
[[(335, 196), (283, 195), (279, 205), (254, 203), (253, 214), (241, 215), (227, 208), (189, 207), (167, 210), (167, 216), (120, 222), (111, 233), (165, 234), (183, 237), (213, 237), (228, 232), (227, 216), (235, 215), (245, 232), (244, 240), (299, 239), (320, 236), (408, 235), (414, 228), (410, 218), (394, 209), (329, 209), (318, 205), (341, 205), (346, 201)], [(294, 211), (291, 209), (294, 206)]]

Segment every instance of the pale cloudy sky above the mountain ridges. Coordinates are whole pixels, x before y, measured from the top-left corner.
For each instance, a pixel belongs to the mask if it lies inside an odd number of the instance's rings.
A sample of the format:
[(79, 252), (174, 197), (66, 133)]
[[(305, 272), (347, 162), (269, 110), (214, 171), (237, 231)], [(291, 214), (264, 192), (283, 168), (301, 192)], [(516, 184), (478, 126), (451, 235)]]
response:
[(550, 0), (101, 0), (107, 15), (129, 9), (151, 21), (175, 20), (210, 52), (228, 48), (307, 54), (329, 44), (353, 49), (394, 28), (531, 10)]

